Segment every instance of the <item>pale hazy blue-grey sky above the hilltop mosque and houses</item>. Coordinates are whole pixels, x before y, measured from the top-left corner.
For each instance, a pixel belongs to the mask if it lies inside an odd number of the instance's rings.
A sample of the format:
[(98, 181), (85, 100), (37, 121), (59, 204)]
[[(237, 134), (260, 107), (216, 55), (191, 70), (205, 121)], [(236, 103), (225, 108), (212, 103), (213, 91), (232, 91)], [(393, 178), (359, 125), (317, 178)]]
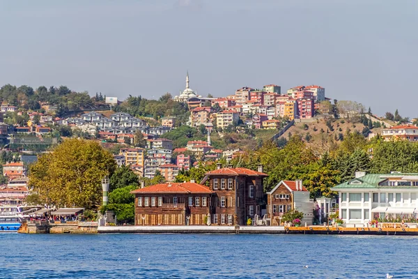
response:
[(0, 84), (159, 98), (325, 87), (416, 117), (417, 0), (0, 1)]

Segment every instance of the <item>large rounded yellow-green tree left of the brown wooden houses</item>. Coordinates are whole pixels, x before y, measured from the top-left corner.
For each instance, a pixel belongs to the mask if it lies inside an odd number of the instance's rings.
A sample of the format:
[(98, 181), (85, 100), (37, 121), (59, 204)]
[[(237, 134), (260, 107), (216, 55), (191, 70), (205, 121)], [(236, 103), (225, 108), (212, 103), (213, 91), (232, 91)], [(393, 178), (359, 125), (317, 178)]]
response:
[(116, 169), (113, 156), (89, 140), (65, 140), (30, 166), (29, 186), (56, 206), (98, 209), (101, 181)]

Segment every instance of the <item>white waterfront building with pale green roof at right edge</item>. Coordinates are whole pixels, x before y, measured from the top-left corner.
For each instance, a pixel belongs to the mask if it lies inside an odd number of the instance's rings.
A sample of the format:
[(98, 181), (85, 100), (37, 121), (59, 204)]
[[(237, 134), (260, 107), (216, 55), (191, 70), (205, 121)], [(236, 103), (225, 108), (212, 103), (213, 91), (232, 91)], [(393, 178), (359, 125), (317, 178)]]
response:
[(335, 186), (339, 218), (346, 224), (366, 224), (378, 218), (417, 218), (418, 174), (366, 174)]

